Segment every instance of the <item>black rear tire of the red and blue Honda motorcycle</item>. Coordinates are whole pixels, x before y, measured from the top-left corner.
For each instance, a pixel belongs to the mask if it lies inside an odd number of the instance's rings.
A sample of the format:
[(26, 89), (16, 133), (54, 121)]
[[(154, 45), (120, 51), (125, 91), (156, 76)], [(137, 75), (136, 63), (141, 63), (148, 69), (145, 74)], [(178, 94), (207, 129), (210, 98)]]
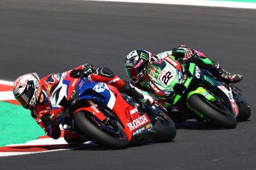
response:
[(169, 142), (176, 136), (175, 124), (166, 113), (163, 113), (163, 116), (156, 117), (154, 129), (156, 129), (156, 136), (154, 138), (156, 142)]

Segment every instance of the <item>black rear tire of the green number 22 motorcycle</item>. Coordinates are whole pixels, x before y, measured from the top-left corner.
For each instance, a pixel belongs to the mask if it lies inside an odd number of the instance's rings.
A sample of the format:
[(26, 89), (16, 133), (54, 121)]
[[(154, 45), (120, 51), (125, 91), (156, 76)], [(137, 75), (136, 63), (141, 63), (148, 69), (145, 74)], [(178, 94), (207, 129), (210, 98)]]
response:
[(239, 115), (236, 117), (237, 122), (243, 122), (248, 120), (251, 116), (250, 105), (242, 98), (241, 103), (237, 103), (239, 108)]

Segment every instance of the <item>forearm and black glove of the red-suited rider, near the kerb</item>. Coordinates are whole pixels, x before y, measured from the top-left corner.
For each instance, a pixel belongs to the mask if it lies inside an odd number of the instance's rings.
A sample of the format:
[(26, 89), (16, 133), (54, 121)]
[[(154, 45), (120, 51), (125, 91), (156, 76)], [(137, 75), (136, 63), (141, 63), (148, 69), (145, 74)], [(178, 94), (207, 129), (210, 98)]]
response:
[(53, 139), (60, 138), (61, 131), (59, 125), (54, 124), (54, 122), (51, 121), (51, 118), (49, 118), (48, 115), (40, 113), (38, 114), (35, 110), (32, 110), (31, 117), (33, 117), (36, 123), (40, 125), (42, 129), (44, 129), (47, 136), (50, 136)]

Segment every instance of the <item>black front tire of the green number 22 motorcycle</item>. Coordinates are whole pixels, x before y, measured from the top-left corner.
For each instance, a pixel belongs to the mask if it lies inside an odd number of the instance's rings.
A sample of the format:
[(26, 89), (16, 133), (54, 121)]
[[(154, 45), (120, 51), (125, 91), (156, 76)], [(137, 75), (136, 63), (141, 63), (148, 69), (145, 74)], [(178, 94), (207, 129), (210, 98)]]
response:
[(214, 107), (213, 103), (206, 101), (206, 99), (198, 94), (193, 94), (189, 97), (188, 103), (192, 108), (195, 108), (195, 110), (209, 118), (210, 122), (214, 125), (226, 129), (235, 128), (237, 125), (236, 117), (228, 109), (218, 109), (217, 106)]

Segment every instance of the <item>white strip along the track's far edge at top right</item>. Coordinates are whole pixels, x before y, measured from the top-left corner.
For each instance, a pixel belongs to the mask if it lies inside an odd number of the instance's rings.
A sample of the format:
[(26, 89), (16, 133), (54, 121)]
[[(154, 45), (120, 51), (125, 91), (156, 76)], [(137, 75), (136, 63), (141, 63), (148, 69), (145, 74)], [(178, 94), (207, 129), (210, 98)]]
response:
[(206, 0), (83, 0), (83, 1), (109, 1), (123, 3), (152, 3), (152, 4), (182, 4), (192, 6), (211, 6), (226, 8), (256, 9), (256, 3), (243, 3), (233, 1), (206, 1)]

